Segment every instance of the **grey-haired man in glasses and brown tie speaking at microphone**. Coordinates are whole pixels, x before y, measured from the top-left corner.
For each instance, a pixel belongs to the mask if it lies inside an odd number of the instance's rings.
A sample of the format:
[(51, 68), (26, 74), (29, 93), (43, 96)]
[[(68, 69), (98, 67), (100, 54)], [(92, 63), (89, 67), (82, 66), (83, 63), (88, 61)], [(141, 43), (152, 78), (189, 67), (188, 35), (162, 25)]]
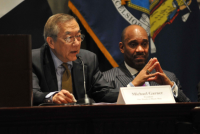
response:
[(80, 49), (84, 35), (74, 17), (50, 17), (44, 38), (46, 43), (32, 50), (34, 105), (76, 102), (84, 98), (85, 88), (96, 102), (116, 100), (118, 93), (103, 79), (96, 55)]

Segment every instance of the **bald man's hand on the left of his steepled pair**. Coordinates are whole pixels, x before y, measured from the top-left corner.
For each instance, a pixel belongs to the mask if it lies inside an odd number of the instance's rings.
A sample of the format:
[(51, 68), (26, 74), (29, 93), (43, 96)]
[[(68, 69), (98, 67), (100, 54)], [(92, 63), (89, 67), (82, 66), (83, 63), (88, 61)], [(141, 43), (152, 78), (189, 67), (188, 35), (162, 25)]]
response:
[(151, 72), (155, 67), (157, 58), (150, 59), (149, 62), (145, 65), (145, 67), (139, 72), (139, 74), (135, 77), (135, 79), (132, 81), (132, 84), (134, 86), (142, 86), (145, 81), (148, 81), (149, 78), (155, 77), (158, 75), (158, 72), (154, 74), (148, 74), (147, 70)]

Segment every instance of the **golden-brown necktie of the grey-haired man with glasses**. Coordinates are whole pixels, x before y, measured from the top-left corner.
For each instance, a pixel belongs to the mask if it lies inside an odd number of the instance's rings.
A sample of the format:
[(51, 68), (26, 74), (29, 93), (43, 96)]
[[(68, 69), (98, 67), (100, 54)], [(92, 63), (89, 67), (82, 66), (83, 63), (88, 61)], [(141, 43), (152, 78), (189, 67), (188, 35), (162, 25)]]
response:
[(65, 71), (62, 76), (62, 89), (66, 89), (70, 93), (73, 93), (71, 72), (68, 69), (67, 63), (63, 63), (62, 66), (65, 68)]

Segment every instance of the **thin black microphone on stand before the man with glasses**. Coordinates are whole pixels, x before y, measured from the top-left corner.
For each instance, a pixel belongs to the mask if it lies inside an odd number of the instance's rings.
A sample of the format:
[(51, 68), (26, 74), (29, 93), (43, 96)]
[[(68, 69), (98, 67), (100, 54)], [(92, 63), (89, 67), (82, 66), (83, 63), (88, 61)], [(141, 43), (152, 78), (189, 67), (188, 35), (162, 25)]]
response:
[(80, 59), (80, 61), (82, 62), (83, 65), (83, 80), (84, 80), (84, 90), (85, 90), (85, 97), (81, 98), (79, 100), (77, 100), (77, 104), (84, 104), (84, 105), (92, 105), (93, 103), (95, 103), (95, 101), (91, 98), (88, 97), (87, 93), (86, 93), (86, 81), (85, 81), (85, 68), (84, 68), (84, 63), (83, 60), (81, 59), (80, 56), (77, 56), (78, 59)]

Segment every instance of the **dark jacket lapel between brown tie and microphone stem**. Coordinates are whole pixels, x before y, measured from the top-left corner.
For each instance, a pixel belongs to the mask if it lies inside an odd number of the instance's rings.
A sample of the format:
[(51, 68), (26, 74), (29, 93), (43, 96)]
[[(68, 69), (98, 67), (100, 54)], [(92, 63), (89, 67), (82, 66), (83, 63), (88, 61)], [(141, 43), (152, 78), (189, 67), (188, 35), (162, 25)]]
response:
[[(87, 79), (87, 66), (84, 65), (85, 70), (85, 80)], [(73, 93), (75, 98), (80, 99), (84, 97), (84, 78), (83, 78), (83, 66), (79, 59), (73, 61), (72, 68), (72, 81), (73, 81)]]

